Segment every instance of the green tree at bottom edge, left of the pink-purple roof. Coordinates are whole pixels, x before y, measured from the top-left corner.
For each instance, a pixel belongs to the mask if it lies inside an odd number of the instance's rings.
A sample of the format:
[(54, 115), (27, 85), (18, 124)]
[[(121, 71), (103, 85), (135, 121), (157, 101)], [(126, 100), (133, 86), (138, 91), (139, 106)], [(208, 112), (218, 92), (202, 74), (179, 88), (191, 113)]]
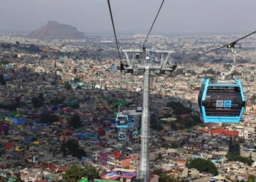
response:
[(94, 178), (99, 178), (99, 172), (94, 167), (83, 169), (80, 166), (72, 165), (66, 170), (62, 178), (67, 182), (77, 182), (82, 178), (86, 178), (89, 173), (93, 173)]

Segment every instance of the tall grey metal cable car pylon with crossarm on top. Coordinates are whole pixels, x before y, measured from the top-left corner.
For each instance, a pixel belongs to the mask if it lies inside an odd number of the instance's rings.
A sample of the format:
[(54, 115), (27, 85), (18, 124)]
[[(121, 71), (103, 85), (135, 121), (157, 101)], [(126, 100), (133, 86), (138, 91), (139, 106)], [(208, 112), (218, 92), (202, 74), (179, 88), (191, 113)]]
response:
[[(143, 83), (143, 114), (141, 119), (141, 150), (140, 150), (140, 168), (138, 170), (138, 180), (141, 182), (150, 181), (150, 166), (149, 166), (149, 124), (150, 124), (150, 112), (149, 112), (149, 88), (150, 88), (150, 71), (159, 70), (159, 74), (166, 74), (167, 72), (172, 72), (176, 67), (176, 63), (173, 64), (172, 61), (168, 60), (170, 54), (174, 51), (155, 51), (155, 50), (146, 50), (143, 52), (145, 55), (145, 60), (143, 64), (135, 63), (135, 52), (136, 59), (140, 60), (140, 50), (122, 50), (126, 55), (127, 60), (124, 64), (124, 69), (127, 71), (127, 74), (132, 74), (135, 69), (143, 69), (144, 71), (144, 83)], [(128, 52), (133, 52), (133, 60), (129, 60)], [(140, 53), (139, 53), (140, 52)], [(160, 64), (151, 64), (150, 56), (155, 53), (161, 54), (161, 63)], [(167, 53), (166, 60), (163, 60), (163, 53)]]

